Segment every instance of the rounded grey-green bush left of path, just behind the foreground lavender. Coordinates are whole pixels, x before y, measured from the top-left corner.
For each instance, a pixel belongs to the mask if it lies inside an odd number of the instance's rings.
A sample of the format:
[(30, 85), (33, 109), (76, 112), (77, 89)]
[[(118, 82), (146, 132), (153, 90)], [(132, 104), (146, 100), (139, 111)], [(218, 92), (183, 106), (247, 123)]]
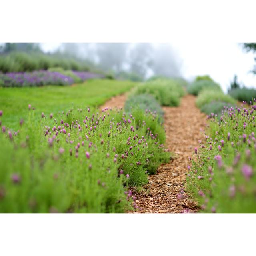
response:
[[(159, 116), (164, 115), (159, 103), (150, 94), (138, 94), (133, 95), (128, 98), (125, 102), (124, 109), (128, 113), (132, 113), (136, 108), (142, 109), (144, 111), (156, 112)], [(162, 118), (160, 118), (162, 120)]]

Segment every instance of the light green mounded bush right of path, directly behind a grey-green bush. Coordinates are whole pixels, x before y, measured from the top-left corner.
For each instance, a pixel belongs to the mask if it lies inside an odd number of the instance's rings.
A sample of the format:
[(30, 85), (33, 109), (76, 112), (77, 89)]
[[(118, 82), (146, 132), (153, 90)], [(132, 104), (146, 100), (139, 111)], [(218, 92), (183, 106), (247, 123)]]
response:
[(220, 90), (203, 90), (196, 99), (196, 105), (198, 108), (202, 108), (202, 106), (212, 101), (236, 104), (236, 100), (234, 100), (230, 95), (224, 94)]

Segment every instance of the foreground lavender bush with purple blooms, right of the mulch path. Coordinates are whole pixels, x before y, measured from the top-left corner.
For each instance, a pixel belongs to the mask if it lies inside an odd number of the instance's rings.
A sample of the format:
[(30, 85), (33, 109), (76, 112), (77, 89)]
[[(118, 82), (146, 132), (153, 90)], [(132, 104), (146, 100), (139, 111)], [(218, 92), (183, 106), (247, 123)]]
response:
[(210, 119), (191, 159), (187, 190), (204, 212), (256, 212), (256, 102)]

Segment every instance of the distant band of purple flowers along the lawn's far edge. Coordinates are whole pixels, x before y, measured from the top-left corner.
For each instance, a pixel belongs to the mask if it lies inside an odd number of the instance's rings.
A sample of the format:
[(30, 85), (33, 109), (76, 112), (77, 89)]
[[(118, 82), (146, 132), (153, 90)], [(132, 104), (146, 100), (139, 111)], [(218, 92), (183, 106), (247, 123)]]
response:
[[(91, 78), (102, 78), (102, 75), (90, 72), (75, 72), (83, 81)], [(34, 71), (34, 72), (12, 72), (0, 74), (0, 86), (4, 87), (24, 87), (43, 85), (71, 85), (74, 79), (60, 72)]]

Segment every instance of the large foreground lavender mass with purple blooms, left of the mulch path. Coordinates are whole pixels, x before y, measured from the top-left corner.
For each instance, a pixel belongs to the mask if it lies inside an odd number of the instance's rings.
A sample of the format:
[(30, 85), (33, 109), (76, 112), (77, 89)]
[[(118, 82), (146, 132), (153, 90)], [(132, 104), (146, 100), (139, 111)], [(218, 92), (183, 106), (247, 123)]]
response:
[(137, 208), (129, 187), (170, 158), (163, 127), (142, 110), (71, 109), (38, 123), (33, 109), (18, 130), (0, 122), (0, 212)]

